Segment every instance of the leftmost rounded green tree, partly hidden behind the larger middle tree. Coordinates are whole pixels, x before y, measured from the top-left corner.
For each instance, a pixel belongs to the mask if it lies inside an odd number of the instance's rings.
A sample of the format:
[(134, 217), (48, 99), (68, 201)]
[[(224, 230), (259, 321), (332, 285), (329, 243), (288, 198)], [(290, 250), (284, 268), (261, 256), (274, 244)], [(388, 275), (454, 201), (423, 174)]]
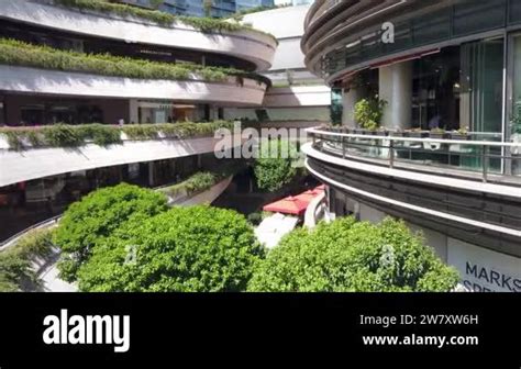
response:
[(60, 277), (76, 280), (92, 248), (128, 221), (143, 221), (167, 210), (166, 197), (122, 183), (91, 192), (65, 212), (54, 235), (62, 248)]

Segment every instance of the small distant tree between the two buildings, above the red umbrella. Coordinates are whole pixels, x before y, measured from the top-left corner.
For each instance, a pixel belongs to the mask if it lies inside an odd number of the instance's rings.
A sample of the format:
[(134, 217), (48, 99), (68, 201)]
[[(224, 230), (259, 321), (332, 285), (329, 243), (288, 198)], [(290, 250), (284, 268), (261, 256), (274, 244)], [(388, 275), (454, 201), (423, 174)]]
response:
[(297, 175), (295, 158), (297, 150), (288, 141), (273, 139), (260, 145), (254, 171), (258, 188), (277, 191)]

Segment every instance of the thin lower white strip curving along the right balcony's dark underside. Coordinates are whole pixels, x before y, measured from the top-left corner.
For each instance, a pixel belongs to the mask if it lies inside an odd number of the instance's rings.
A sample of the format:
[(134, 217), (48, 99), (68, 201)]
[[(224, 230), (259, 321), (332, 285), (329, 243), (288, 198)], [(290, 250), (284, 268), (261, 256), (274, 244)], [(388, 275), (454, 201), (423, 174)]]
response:
[(363, 195), (363, 197), (366, 197), (366, 198), (369, 198), (369, 199), (373, 199), (373, 200), (376, 200), (376, 201), (386, 202), (386, 203), (392, 204), (395, 206), (412, 210), (412, 211), (420, 212), (420, 213), (423, 213), (423, 214), (426, 214), (426, 215), (432, 215), (432, 216), (441, 217), (441, 219), (444, 219), (444, 220), (447, 220), (447, 221), (458, 222), (458, 223), (463, 223), (463, 224), (470, 225), (470, 226), (474, 226), (474, 227), (479, 227), (479, 228), (485, 228), (485, 230), (488, 230), (488, 231), (499, 232), (499, 233), (503, 233), (503, 234), (508, 234), (510, 236), (521, 238), (521, 231), (507, 228), (507, 227), (503, 227), (503, 226), (500, 226), (500, 225), (494, 225), (494, 224), (489, 224), (489, 223), (473, 221), (473, 220), (469, 220), (467, 217), (452, 215), (452, 214), (439, 212), (439, 211), (435, 211), (435, 210), (425, 209), (425, 208), (422, 208), (422, 206), (411, 205), (411, 204), (408, 204), (407, 202), (392, 200), (392, 199), (389, 199), (389, 198), (385, 198), (385, 197), (374, 194), (374, 193), (370, 193), (370, 192), (367, 192), (367, 191), (358, 190), (354, 187), (337, 182), (337, 181), (335, 181), (333, 179), (330, 179), (325, 176), (322, 176), (322, 175), (318, 174), (315, 170), (313, 170), (309, 166), (308, 159), (306, 159), (306, 167), (308, 168), (308, 170), (313, 176), (320, 178), (324, 182), (331, 183), (333, 186), (343, 188), (343, 189), (345, 189), (350, 192), (354, 192), (356, 194), (359, 194), (359, 195)]

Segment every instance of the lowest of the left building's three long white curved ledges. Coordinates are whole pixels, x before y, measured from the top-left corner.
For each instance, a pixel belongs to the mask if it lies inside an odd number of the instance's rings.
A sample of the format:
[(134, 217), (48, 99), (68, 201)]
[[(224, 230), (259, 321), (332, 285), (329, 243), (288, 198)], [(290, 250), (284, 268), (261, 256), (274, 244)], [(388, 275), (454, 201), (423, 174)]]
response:
[(218, 141), (204, 137), (125, 141), (108, 147), (89, 144), (78, 148), (0, 149), (0, 187), (76, 170), (212, 153)]

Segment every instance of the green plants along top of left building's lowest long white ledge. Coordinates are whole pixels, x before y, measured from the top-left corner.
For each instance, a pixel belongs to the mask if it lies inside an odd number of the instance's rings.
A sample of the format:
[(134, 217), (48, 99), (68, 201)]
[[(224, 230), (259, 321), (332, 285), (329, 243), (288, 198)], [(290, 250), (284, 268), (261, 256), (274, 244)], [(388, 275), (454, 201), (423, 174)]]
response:
[(163, 124), (55, 124), (34, 127), (0, 127), (9, 148), (23, 150), (38, 147), (80, 147), (86, 144), (98, 146), (121, 145), (123, 134), (128, 139), (181, 139), (212, 136), (219, 128), (233, 130), (233, 122), (209, 123), (163, 123)]

